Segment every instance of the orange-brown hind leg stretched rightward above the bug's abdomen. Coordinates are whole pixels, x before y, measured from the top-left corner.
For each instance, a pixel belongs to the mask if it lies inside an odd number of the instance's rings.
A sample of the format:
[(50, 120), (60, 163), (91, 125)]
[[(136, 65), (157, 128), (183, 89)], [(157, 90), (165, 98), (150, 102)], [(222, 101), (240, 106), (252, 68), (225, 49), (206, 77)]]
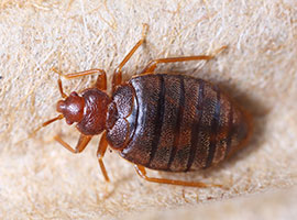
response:
[(185, 56), (185, 57), (170, 57), (170, 58), (158, 58), (151, 61), (147, 66), (144, 68), (144, 70), (141, 74), (152, 74), (157, 64), (165, 64), (165, 63), (176, 63), (176, 62), (190, 62), (190, 61), (209, 61), (213, 58), (216, 55), (221, 53), (223, 50), (226, 50), (227, 46), (222, 46), (219, 50), (216, 51), (213, 55), (200, 55), (200, 56)]

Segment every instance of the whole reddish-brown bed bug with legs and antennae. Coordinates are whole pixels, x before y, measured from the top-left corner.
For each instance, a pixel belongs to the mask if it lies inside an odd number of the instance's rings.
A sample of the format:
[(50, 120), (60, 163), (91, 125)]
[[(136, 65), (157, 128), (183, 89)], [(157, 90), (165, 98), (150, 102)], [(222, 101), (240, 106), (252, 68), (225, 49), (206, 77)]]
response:
[[(208, 61), (213, 56), (154, 59), (140, 75), (122, 81), (123, 66), (145, 40), (147, 25), (144, 28), (142, 38), (113, 74), (111, 97), (107, 94), (103, 69), (63, 75), (65, 78), (76, 78), (98, 74), (98, 78), (94, 87), (80, 95), (73, 91), (69, 96), (64, 94), (58, 79), (64, 98), (57, 102), (61, 114), (42, 127), (63, 118), (68, 124), (76, 123), (80, 136), (75, 148), (58, 135), (55, 136), (73, 153), (82, 152), (94, 135), (103, 132), (97, 156), (107, 182), (109, 177), (102, 158), (109, 145), (135, 164), (138, 174), (148, 182), (219, 186), (146, 176), (145, 168), (188, 172), (213, 166), (248, 141), (252, 124), (249, 114), (217, 86), (189, 76), (154, 73), (157, 64)], [(218, 53), (224, 48), (221, 47)]]

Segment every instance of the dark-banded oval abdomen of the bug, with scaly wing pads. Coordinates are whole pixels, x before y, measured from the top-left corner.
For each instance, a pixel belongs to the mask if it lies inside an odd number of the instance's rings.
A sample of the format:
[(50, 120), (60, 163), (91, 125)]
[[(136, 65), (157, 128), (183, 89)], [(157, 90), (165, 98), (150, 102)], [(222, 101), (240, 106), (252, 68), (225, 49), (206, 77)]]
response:
[(251, 131), (245, 112), (217, 86), (189, 76), (134, 77), (117, 89), (113, 101), (119, 112), (108, 129), (109, 143), (123, 158), (151, 169), (210, 167), (240, 148)]

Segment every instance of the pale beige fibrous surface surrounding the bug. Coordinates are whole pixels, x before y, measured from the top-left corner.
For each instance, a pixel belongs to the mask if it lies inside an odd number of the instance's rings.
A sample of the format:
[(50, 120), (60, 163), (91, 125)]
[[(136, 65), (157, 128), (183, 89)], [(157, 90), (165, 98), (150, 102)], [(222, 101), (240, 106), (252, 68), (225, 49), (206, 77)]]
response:
[[(129, 79), (152, 58), (211, 54), (208, 63), (166, 65), (221, 86), (254, 116), (251, 143), (210, 170), (152, 176), (202, 180), (224, 189), (145, 183), (133, 165), (107, 152), (105, 184), (98, 138), (73, 155), (64, 121), (32, 131), (56, 116), (56, 67), (63, 73), (112, 70), (150, 25), (147, 41), (124, 67)], [(0, 1), (1, 219), (293, 219), (297, 216), (297, 1)], [(95, 77), (63, 80), (66, 92)]]

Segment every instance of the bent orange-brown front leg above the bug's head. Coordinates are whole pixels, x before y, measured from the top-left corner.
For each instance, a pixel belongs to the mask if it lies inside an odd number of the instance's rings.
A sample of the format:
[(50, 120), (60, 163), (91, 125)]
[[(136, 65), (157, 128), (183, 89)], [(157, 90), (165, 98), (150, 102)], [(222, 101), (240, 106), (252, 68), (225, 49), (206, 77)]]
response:
[[(98, 78), (96, 81), (95, 87), (101, 90), (107, 90), (107, 74), (103, 69), (89, 69), (89, 70), (85, 70), (85, 72), (77, 72), (77, 73), (72, 73), (72, 74), (62, 74), (61, 72), (56, 70), (55, 68), (53, 68), (53, 72), (57, 73), (59, 76), (66, 78), (66, 79), (73, 79), (73, 78), (77, 78), (80, 76), (88, 76), (88, 75), (94, 75), (94, 74), (98, 74)], [(59, 84), (59, 82), (58, 82)], [(59, 87), (61, 90), (62, 86)], [(63, 92), (63, 90), (61, 90)], [(64, 96), (64, 95), (62, 95)], [(65, 98), (65, 97), (63, 97)]]

